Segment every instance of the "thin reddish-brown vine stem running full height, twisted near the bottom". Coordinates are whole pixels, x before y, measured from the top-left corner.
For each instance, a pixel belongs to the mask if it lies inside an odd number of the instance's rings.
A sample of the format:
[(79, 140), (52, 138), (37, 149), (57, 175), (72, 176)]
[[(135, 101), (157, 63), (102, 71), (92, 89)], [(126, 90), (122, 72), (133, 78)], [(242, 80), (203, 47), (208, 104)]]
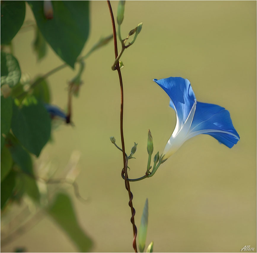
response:
[[(118, 57), (118, 46), (117, 46), (117, 36), (116, 36), (115, 21), (114, 21), (114, 16), (113, 16), (113, 12), (112, 12), (110, 1), (107, 0), (107, 4), (108, 4), (110, 15), (111, 15), (111, 22), (112, 22), (112, 29), (113, 29), (113, 39), (114, 39), (114, 53), (115, 53), (115, 60), (116, 60), (117, 57)], [(133, 248), (134, 248), (135, 252), (137, 252), (137, 245), (136, 245), (137, 227), (135, 226), (135, 220), (134, 220), (135, 208), (133, 208), (133, 203), (132, 203), (133, 194), (130, 191), (129, 181), (127, 181), (127, 162), (128, 162), (128, 160), (126, 159), (124, 135), (123, 135), (123, 103), (124, 103), (124, 95), (123, 95), (122, 75), (121, 75), (121, 71), (120, 71), (120, 68), (119, 68), (119, 61), (117, 61), (115, 69), (118, 71), (118, 74), (119, 74), (119, 83), (120, 83), (120, 92), (121, 92), (120, 135), (121, 135), (122, 155), (123, 155), (123, 169), (122, 169), (122, 173), (125, 175), (125, 178), (124, 178), (125, 187), (126, 187), (126, 189), (128, 191), (129, 198), (130, 198), (130, 200), (129, 200), (129, 206), (131, 208), (131, 219), (130, 219), (130, 221), (131, 221), (131, 223), (133, 225), (133, 235), (134, 235), (134, 238), (133, 238)]]

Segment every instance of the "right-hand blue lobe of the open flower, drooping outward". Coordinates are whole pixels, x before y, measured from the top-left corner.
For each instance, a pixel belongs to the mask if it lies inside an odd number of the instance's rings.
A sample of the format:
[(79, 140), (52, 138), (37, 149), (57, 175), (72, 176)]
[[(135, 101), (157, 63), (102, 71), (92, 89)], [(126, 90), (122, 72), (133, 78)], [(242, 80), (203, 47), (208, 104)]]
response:
[(202, 102), (197, 102), (187, 140), (199, 134), (211, 135), (229, 148), (240, 139), (228, 110), (219, 105)]

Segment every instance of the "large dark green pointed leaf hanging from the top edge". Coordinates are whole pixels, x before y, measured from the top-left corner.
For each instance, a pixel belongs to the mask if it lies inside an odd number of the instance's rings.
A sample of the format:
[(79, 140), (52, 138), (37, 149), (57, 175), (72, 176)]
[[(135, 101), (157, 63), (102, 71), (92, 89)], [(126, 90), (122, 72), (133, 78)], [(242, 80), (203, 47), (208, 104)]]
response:
[(28, 3), (46, 41), (74, 68), (89, 34), (89, 1), (52, 1), (52, 19), (44, 16), (44, 1)]

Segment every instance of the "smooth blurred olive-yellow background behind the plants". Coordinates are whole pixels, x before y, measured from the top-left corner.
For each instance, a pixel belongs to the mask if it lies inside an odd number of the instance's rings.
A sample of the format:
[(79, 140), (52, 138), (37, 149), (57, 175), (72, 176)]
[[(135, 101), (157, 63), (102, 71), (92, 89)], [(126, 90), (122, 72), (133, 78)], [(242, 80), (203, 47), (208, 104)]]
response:
[[(111, 1), (116, 17), (118, 1)], [(26, 6), (25, 20), (33, 20)], [(106, 1), (90, 1), (90, 37), (84, 55), (102, 36), (112, 33)], [(245, 245), (256, 252), (256, 1), (126, 1), (122, 37), (143, 22), (124, 63), (124, 139), (127, 153), (138, 143), (129, 177), (146, 171), (147, 131), (154, 154), (162, 153), (176, 124), (169, 98), (152, 79), (179, 76), (190, 80), (197, 100), (229, 110), (240, 142), (232, 149), (209, 135), (188, 140), (158, 169), (154, 177), (131, 183), (139, 227), (145, 199), (149, 200), (146, 245), (154, 252), (239, 252)], [(62, 64), (48, 46), (37, 62), (31, 48), (34, 31), (13, 39), (14, 55), (23, 75), (34, 78)], [(119, 43), (118, 43), (119, 45)], [(61, 125), (34, 159), (36, 170), (50, 166), (61, 176), (70, 157), (80, 156), (79, 201), (67, 186), (81, 227), (94, 242), (93, 252), (132, 252), (128, 194), (120, 173), (120, 89), (114, 46), (86, 60), (83, 86), (73, 99), (75, 127)], [(78, 69), (78, 66), (75, 66)], [(67, 67), (48, 78), (52, 104), (65, 109), (68, 81), (76, 72)], [(18, 208), (17, 206), (13, 207)], [(13, 252), (76, 252), (49, 216), (1, 247)]]

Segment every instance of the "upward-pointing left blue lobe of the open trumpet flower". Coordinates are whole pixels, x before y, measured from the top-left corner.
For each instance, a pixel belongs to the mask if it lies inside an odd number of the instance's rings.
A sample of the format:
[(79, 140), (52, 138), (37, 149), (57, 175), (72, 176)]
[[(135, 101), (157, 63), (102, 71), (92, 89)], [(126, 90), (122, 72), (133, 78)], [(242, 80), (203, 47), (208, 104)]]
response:
[(154, 79), (153, 81), (170, 97), (170, 107), (172, 107), (177, 114), (177, 125), (180, 129), (181, 125), (186, 121), (196, 100), (189, 80), (181, 77), (169, 77), (160, 80)]

